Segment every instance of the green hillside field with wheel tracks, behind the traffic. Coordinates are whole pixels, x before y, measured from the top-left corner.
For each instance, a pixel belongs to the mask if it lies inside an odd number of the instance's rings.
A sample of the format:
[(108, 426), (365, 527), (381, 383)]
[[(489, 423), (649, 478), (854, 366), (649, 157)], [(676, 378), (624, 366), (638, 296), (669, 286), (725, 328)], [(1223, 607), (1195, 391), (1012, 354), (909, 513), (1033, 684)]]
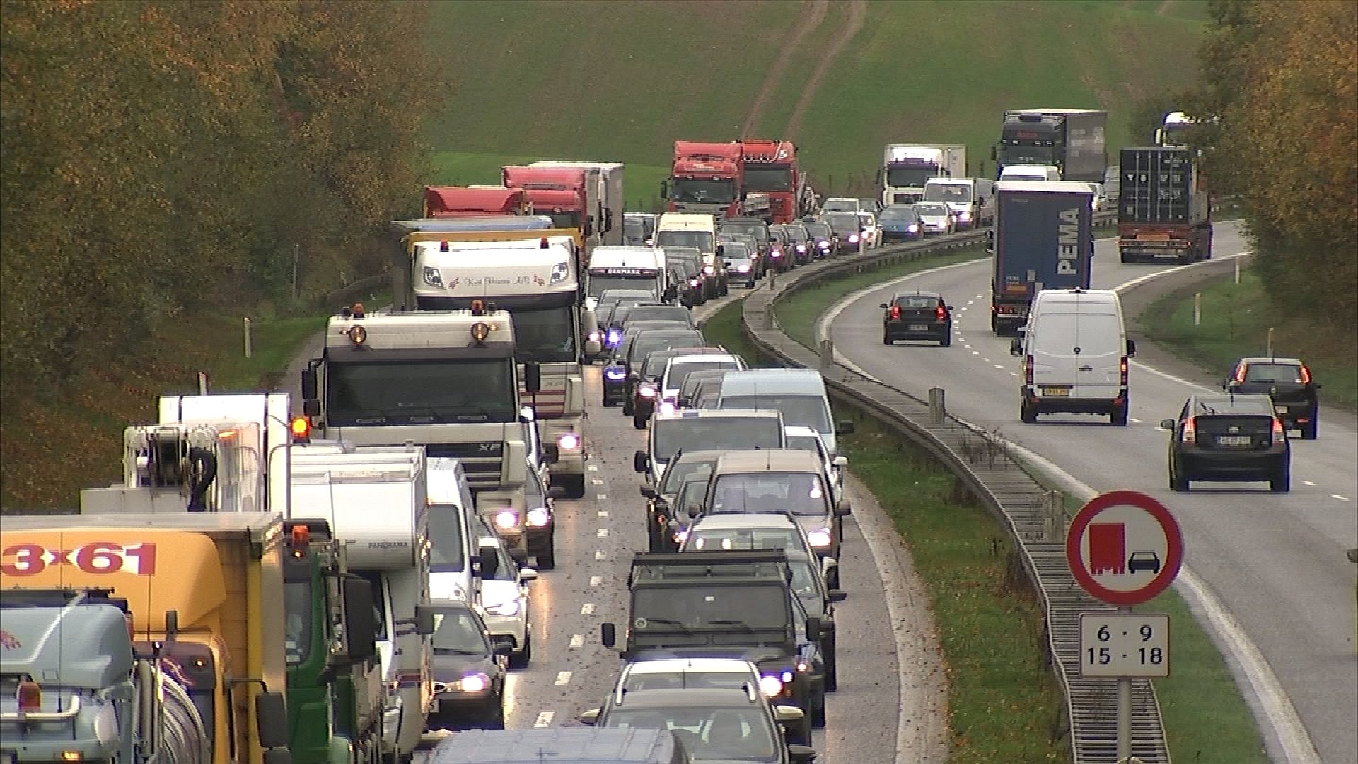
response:
[[(429, 143), (436, 156), (665, 166), (675, 139), (737, 137), (801, 10), (770, 1), (433, 4), (426, 41), (459, 83)], [(804, 50), (769, 83), (752, 133), (784, 135), (845, 18), (845, 4), (831, 3)], [(979, 170), (1002, 111), (1014, 107), (1107, 109), (1112, 152), (1149, 137), (1130, 132), (1134, 103), (1191, 79), (1205, 22), (1205, 3), (873, 1), (790, 137), (822, 186), (870, 178), (887, 143), (964, 143)], [(440, 174), (448, 169), (439, 164)], [(629, 186), (642, 182), (650, 194), (656, 186), (644, 174), (629, 173)], [(644, 196), (629, 189), (629, 198)]]

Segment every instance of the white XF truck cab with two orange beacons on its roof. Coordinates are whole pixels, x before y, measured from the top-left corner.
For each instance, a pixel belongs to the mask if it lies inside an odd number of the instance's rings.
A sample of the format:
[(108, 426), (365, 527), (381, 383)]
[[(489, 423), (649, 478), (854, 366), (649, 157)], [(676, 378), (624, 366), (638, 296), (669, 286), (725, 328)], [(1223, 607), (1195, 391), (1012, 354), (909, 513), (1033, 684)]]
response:
[[(475, 300), (470, 310), (369, 314), (356, 305), (330, 317), (322, 356), (301, 372), (315, 432), (359, 446), (410, 442), (458, 458), (477, 511), (521, 518), (528, 453), (520, 366), (513, 321), (492, 307)], [(521, 389), (542, 390), (536, 362), (523, 364)]]

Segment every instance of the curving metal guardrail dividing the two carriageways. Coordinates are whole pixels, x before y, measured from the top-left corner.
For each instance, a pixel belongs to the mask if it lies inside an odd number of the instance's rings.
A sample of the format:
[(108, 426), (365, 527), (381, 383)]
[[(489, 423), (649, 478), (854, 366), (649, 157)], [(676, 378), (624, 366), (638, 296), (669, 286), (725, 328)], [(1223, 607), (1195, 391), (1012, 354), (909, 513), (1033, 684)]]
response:
[[(1114, 213), (1099, 213), (1109, 222)], [(834, 363), (832, 358), (807, 348), (778, 329), (774, 309), (786, 295), (811, 284), (918, 260), (940, 249), (983, 242), (985, 231), (971, 231), (880, 247), (860, 257), (834, 260), (779, 275), (750, 292), (741, 307), (741, 326), (759, 352), (785, 366), (819, 368), (831, 397), (872, 416), (926, 449), (1009, 529), (1021, 549), (1021, 567), (1042, 598), (1046, 639), (1052, 670), (1066, 699), (1071, 760), (1076, 764), (1118, 761), (1116, 682), (1080, 677), (1080, 613), (1114, 610), (1085, 594), (1070, 575), (1065, 557), (1065, 533), (1070, 518), (1058, 492), (1046, 491), (991, 432), (947, 416), (904, 390), (868, 379)], [(832, 349), (826, 348), (832, 355)], [(941, 402), (941, 401), (940, 401)], [(1131, 753), (1145, 764), (1169, 764), (1164, 723), (1154, 688), (1148, 680), (1133, 681)]]

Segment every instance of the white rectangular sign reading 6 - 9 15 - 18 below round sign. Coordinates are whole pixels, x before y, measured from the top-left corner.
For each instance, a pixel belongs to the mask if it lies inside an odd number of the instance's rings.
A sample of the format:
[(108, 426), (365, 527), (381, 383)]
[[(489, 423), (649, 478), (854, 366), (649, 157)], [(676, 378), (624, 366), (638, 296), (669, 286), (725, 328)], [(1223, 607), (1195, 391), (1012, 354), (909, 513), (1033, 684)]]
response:
[(1080, 613), (1080, 676), (1168, 677), (1169, 616)]

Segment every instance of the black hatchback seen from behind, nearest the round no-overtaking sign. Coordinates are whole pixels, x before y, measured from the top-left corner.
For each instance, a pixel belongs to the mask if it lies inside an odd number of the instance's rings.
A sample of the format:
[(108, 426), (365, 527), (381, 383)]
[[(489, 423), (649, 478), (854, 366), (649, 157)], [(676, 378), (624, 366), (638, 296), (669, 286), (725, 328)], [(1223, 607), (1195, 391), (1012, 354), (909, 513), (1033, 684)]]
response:
[(1267, 481), (1275, 493), (1291, 489), (1291, 445), (1268, 396), (1190, 396), (1169, 431), (1169, 488), (1188, 491), (1192, 480)]

